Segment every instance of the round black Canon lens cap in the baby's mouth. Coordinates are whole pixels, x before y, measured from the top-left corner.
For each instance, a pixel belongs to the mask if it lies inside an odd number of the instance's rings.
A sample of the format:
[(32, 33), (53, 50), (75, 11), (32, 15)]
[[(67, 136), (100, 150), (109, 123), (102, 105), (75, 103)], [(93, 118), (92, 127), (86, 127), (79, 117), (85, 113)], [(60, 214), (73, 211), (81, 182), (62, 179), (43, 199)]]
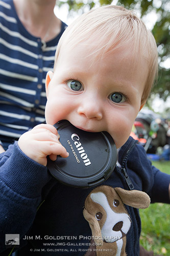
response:
[(57, 180), (69, 186), (89, 188), (109, 178), (117, 160), (110, 134), (85, 132), (66, 120), (54, 126), (69, 153), (67, 158), (57, 156), (56, 161), (48, 158), (47, 168)]

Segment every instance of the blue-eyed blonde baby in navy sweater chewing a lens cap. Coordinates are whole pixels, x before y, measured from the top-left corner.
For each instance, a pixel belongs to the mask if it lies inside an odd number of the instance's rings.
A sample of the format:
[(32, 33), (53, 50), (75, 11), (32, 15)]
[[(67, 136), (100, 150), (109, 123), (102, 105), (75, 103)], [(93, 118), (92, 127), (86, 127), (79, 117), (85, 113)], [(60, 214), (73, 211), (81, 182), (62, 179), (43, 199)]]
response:
[[(169, 202), (170, 176), (152, 166), (143, 147), (129, 138), (157, 70), (153, 35), (123, 7), (93, 9), (65, 30), (54, 73), (46, 76), (46, 124), (23, 134), (1, 158), (1, 180), (8, 195), (6, 200), (2, 196), (7, 219), (1, 227), (4, 234), (20, 234), (19, 255), (139, 255), (137, 208), (148, 207), (148, 195), (152, 202)], [(65, 186), (47, 172), (47, 156), (68, 157), (53, 126), (60, 120), (112, 136), (121, 167), (116, 166), (101, 186)], [(132, 191), (123, 170), (133, 183)], [(49, 240), (46, 250), (43, 243)]]

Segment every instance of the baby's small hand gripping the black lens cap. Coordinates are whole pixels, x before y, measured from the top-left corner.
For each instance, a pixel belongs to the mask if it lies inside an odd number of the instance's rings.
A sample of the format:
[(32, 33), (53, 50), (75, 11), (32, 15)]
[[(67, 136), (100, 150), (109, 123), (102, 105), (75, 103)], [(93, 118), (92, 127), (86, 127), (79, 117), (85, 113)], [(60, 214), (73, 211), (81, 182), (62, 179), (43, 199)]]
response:
[(57, 155), (68, 157), (65, 147), (59, 142), (59, 134), (51, 124), (38, 124), (31, 131), (24, 133), (18, 140), (18, 145), (23, 153), (44, 166), (46, 157), (56, 160)]

